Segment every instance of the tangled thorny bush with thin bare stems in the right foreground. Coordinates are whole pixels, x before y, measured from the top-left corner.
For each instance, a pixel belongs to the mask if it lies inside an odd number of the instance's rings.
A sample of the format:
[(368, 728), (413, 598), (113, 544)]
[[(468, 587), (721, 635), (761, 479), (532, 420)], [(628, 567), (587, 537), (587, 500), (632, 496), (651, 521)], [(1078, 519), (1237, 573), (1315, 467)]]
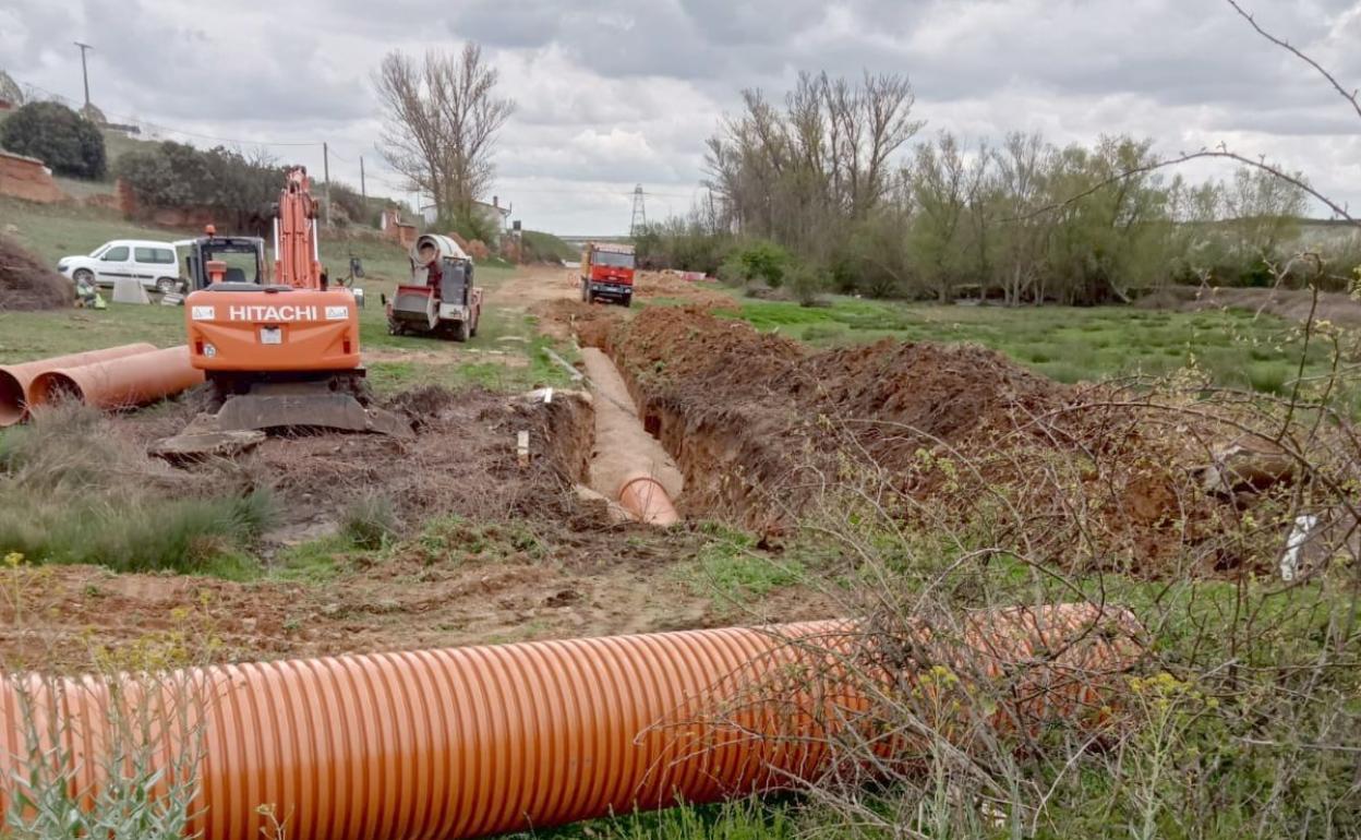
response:
[[(796, 723), (776, 737), (825, 761), (774, 783), (838, 837), (1357, 836), (1356, 344), (1305, 329), (1335, 364), (1285, 398), (1192, 369), (1018, 407), (906, 470), (867, 455), (875, 421), (827, 418), (837, 467), (811, 460), (796, 515), (863, 618), (785, 640), (799, 668), (704, 716), (766, 746), (753, 708)], [(1044, 632), (1060, 603), (1100, 618)]]

